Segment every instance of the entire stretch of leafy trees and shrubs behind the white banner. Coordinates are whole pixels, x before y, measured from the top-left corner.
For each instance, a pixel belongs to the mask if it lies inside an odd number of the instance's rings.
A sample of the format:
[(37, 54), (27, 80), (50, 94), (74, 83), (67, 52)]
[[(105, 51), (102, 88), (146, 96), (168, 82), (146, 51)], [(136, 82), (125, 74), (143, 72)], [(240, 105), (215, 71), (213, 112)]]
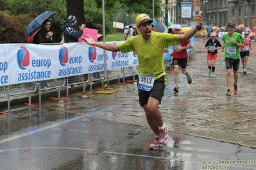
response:
[[(102, 0), (80, 1), (83, 1), (83, 16), (87, 27), (98, 29), (99, 33), (103, 34)], [(46, 11), (56, 12), (50, 29), (53, 31), (53, 40), (60, 42), (63, 27), (67, 22), (67, 7), (67, 0), (0, 0), (0, 43), (24, 43), (28, 24)], [(155, 17), (164, 14), (162, 8), (162, 1), (155, 0)], [(112, 26), (113, 21), (124, 22), (124, 25), (132, 24), (138, 13), (147, 13), (152, 17), (152, 1), (105, 0), (106, 35), (117, 31)]]

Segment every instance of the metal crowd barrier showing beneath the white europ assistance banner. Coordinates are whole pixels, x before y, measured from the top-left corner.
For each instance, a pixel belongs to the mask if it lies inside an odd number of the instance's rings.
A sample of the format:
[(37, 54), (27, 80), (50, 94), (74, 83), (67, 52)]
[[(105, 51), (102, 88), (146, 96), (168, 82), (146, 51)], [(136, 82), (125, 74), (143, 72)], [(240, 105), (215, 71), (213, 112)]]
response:
[[(192, 58), (194, 55), (194, 50), (191, 50), (189, 52), (189, 59)], [(172, 59), (169, 59), (165, 61), (165, 67), (166, 70), (172, 70)], [(169, 68), (169, 69), (168, 69)], [(118, 73), (120, 72), (120, 73)], [(120, 79), (123, 77), (123, 83), (125, 81), (125, 77), (133, 76), (133, 80), (135, 80), (135, 75), (137, 75), (138, 72), (138, 66), (130, 66), (126, 68), (117, 68), (114, 70), (107, 70), (107, 86), (109, 86), (109, 81), (118, 79), (118, 83), (120, 83)], [(103, 72), (99, 72), (100, 78), (94, 78), (92, 76), (92, 73), (89, 73), (88, 80), (90, 82), (95, 81), (101, 81), (101, 87), (103, 88), (103, 79), (105, 78), (105, 75)], [(8, 110), (10, 109), (10, 101), (12, 101), (14, 98), (25, 98), (28, 97), (28, 104), (31, 104), (31, 95), (39, 95), (39, 103), (41, 103), (41, 98), (43, 93), (47, 93), (47, 91), (51, 89), (55, 89), (58, 91), (58, 97), (60, 97), (60, 91), (62, 88), (65, 88), (65, 86), (83, 86), (83, 92), (85, 92), (86, 87), (90, 86), (90, 92), (92, 92), (92, 84), (85, 84), (87, 80), (85, 80), (84, 75), (76, 75), (73, 77), (73, 82), (69, 83), (69, 79), (71, 77), (66, 78), (60, 78), (60, 79), (53, 79), (48, 80), (47, 84), (49, 85), (49, 88), (40, 88), (40, 82), (28, 82), (28, 83), (22, 83), (22, 84), (13, 84), (10, 86), (3, 86), (0, 87), (0, 102), (2, 100), (8, 102)], [(67, 90), (67, 97), (69, 96), (69, 88), (66, 88)]]

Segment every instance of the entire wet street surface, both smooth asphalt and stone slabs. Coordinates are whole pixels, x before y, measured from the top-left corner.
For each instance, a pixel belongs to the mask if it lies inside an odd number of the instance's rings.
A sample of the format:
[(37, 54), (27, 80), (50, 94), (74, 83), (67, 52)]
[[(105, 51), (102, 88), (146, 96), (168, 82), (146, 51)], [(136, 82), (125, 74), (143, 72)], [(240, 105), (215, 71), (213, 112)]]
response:
[(256, 169), (256, 55), (233, 97), (225, 96), (223, 56), (215, 78), (205, 56), (196, 50), (189, 61), (191, 85), (180, 72), (179, 93), (167, 72), (160, 111), (170, 138), (158, 150), (148, 149), (153, 132), (136, 83), (128, 83), (113, 86), (112, 95), (73, 93), (69, 100), (36, 101), (37, 107), (12, 106), (0, 116), (0, 169)]

